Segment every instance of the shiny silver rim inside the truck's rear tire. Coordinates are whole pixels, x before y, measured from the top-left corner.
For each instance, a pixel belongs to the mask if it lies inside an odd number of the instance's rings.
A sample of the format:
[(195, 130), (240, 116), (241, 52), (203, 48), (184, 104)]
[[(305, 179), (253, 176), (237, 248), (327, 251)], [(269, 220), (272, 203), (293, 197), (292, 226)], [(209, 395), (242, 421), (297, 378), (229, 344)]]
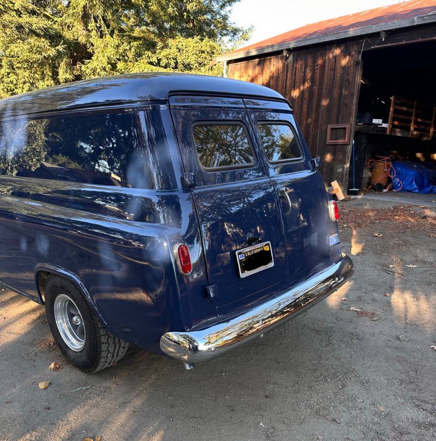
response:
[(54, 318), (62, 340), (73, 351), (85, 346), (85, 324), (79, 308), (67, 294), (59, 294), (54, 301)]

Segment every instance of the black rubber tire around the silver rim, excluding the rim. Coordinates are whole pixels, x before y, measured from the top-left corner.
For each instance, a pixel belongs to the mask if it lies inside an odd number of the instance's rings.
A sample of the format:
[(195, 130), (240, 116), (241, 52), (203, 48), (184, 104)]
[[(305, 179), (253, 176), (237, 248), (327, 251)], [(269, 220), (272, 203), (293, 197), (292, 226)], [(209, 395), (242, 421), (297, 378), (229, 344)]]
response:
[[(86, 338), (83, 349), (71, 349), (61, 336), (56, 324), (54, 304), (60, 294), (68, 295), (80, 312), (85, 326)], [(97, 372), (114, 365), (127, 352), (129, 343), (112, 335), (95, 316), (76, 286), (63, 277), (52, 275), (45, 290), (48, 326), (60, 351), (69, 362), (88, 373)]]

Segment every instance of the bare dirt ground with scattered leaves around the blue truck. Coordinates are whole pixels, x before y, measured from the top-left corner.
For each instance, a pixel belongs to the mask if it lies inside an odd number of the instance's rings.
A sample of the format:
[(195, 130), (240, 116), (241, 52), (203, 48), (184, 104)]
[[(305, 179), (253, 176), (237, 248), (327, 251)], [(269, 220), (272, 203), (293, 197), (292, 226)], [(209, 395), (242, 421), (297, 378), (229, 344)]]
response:
[(340, 210), (352, 279), (191, 371), (133, 350), (88, 376), (59, 354), (41, 306), (0, 290), (0, 440), (435, 440), (436, 209), (361, 198)]

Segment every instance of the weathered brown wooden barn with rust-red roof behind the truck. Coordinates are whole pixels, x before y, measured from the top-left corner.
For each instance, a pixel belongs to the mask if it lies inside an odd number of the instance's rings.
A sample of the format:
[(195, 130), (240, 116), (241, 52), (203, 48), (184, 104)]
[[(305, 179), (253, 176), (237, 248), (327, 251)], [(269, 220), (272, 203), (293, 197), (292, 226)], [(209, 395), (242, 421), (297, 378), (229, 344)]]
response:
[(367, 187), (372, 156), (436, 159), (436, 0), (306, 25), (216, 61), (289, 99), (325, 183), (344, 193)]

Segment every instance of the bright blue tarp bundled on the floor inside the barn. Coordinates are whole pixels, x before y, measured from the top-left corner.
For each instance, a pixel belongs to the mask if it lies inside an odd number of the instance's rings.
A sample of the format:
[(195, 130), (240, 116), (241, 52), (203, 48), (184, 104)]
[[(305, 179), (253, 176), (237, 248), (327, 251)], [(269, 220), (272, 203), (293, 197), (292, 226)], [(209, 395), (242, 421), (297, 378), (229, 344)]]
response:
[(413, 193), (436, 194), (436, 164), (430, 162), (393, 161), (395, 178), (392, 179), (393, 190)]

